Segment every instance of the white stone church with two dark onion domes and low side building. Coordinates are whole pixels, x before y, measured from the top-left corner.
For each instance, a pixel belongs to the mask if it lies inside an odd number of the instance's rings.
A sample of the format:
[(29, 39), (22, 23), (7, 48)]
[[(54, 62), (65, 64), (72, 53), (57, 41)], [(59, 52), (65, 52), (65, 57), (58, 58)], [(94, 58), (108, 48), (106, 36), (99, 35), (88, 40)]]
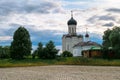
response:
[[(82, 56), (83, 50), (89, 50), (93, 47), (100, 48), (100, 44), (89, 40), (89, 34), (86, 31), (85, 36), (77, 34), (76, 27), (77, 21), (71, 14), (71, 19), (68, 20), (68, 34), (64, 34), (62, 37), (62, 51), (69, 51), (73, 56)], [(85, 37), (85, 40), (84, 40)]]

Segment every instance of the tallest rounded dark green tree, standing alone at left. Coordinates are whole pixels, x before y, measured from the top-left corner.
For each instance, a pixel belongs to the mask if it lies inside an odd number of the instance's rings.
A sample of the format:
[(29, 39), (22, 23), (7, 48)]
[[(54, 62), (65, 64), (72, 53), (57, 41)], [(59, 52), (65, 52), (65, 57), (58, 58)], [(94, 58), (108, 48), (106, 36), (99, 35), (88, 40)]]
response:
[(10, 55), (12, 59), (23, 59), (30, 55), (32, 43), (29, 32), (24, 27), (19, 27), (13, 36), (10, 46)]

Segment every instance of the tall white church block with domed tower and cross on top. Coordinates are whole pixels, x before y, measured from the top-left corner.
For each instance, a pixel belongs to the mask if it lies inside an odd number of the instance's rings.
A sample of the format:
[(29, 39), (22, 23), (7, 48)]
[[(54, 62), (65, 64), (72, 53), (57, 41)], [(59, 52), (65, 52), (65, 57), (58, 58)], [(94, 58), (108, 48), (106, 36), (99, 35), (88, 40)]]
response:
[[(73, 13), (71, 11), (71, 19), (68, 20), (68, 34), (62, 37), (62, 51), (69, 51), (73, 53), (73, 47), (79, 42), (83, 42), (83, 35), (77, 35), (76, 26), (77, 21), (73, 18)], [(74, 54), (73, 54), (74, 56)]]

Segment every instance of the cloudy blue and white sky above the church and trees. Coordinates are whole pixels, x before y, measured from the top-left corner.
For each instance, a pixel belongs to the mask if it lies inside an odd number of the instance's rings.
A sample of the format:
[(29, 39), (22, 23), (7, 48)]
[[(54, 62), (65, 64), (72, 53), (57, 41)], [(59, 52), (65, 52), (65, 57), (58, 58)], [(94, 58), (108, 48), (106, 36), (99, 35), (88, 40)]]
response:
[(0, 45), (10, 45), (15, 30), (24, 26), (34, 49), (49, 40), (61, 48), (71, 10), (77, 33), (84, 35), (88, 28), (90, 39), (98, 43), (107, 28), (120, 24), (120, 0), (0, 0)]

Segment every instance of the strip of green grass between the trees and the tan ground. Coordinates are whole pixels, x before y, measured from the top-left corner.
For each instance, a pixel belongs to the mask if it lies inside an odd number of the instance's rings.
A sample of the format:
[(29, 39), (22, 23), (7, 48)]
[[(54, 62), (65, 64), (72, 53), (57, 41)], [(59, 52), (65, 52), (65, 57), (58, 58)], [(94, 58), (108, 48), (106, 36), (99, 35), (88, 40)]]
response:
[(57, 58), (53, 60), (43, 59), (24, 59), (12, 60), (1, 59), (0, 67), (27, 67), (27, 66), (45, 66), (45, 65), (92, 65), (92, 66), (120, 66), (120, 59), (105, 60), (82, 57)]

